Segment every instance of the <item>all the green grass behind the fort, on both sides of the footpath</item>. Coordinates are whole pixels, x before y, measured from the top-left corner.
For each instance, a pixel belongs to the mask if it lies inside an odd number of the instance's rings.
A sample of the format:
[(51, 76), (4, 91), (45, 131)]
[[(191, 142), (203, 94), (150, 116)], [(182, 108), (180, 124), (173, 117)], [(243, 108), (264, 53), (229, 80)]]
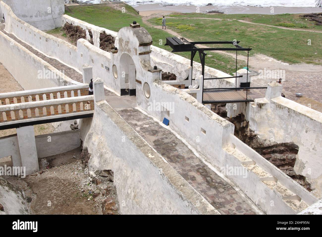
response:
[[(118, 31), (124, 26), (128, 26), (133, 21), (141, 24), (150, 33), (153, 39), (153, 45), (171, 51), (169, 46), (164, 46), (166, 37), (171, 36), (162, 29), (157, 29), (146, 24), (142, 20), (142, 17), (136, 13), (136, 11), (128, 6), (124, 5), (125, 11), (112, 9), (106, 5), (78, 5), (65, 7), (65, 13), (74, 18), (78, 18), (93, 25), (107, 28), (109, 30)], [(200, 17), (204, 17), (205, 14), (198, 14)], [(321, 34), (314, 32), (304, 31), (290, 31), (285, 29), (279, 29), (276, 27), (268, 27), (261, 25), (251, 25), (248, 23), (242, 23), (238, 21), (218, 21), (218, 20), (205, 20), (205, 19), (180, 19), (182, 14), (173, 14), (178, 19), (168, 18), (167, 26), (173, 27), (172, 30), (178, 32), (183, 37), (187, 37), (194, 41), (213, 41), (213, 40), (228, 40), (232, 41), (237, 39), (241, 41), (240, 45), (243, 47), (252, 47), (252, 54), (265, 54), (272, 56), (278, 60), (288, 63), (300, 63), (310, 61), (303, 60), (301, 58), (319, 59), (321, 60)], [(185, 17), (195, 17), (195, 14), (184, 14)], [(227, 19), (234, 19), (235, 15), (206, 15), (207, 17), (221, 18), (227, 17)], [(242, 15), (244, 16), (244, 15)], [(246, 17), (239, 16), (244, 19)], [(248, 15), (249, 18), (253, 15)], [(265, 15), (265, 17), (271, 17), (271, 15)], [(290, 17), (289, 15), (287, 15)], [(150, 19), (152, 24), (160, 24), (160, 19)], [(263, 22), (261, 22), (263, 23)], [(276, 20), (272, 24), (281, 23)], [(265, 23), (267, 24), (267, 23)], [(311, 45), (308, 45), (308, 39), (311, 40)], [(162, 40), (162, 44), (159, 42)], [(270, 51), (263, 51), (259, 48), (267, 49)], [(315, 54), (317, 53), (317, 54)], [(177, 53), (190, 59), (190, 52)], [(232, 74), (235, 71), (235, 61), (230, 56), (223, 56), (214, 54), (213, 52), (207, 52), (212, 57), (206, 57), (206, 65), (221, 70), (225, 73)], [(239, 52), (239, 54), (246, 55), (245, 52)], [(283, 54), (289, 54), (298, 56), (300, 58), (294, 58)], [(199, 62), (198, 55), (194, 60)], [(314, 62), (313, 62), (314, 63)], [(238, 62), (238, 68), (246, 66), (245, 62), (240, 60)]]

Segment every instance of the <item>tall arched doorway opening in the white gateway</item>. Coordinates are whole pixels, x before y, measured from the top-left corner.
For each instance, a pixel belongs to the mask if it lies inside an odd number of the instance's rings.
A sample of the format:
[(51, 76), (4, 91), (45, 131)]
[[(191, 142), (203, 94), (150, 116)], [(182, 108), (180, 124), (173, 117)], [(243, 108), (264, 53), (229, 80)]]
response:
[(123, 53), (120, 57), (121, 95), (136, 95), (136, 68), (132, 57)]

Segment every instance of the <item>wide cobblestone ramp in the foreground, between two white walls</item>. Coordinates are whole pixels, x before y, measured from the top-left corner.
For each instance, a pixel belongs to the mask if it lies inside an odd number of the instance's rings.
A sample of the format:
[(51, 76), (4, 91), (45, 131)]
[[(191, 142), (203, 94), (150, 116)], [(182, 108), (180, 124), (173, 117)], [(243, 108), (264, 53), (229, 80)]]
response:
[(118, 113), (221, 214), (255, 214), (236, 190), (170, 131), (136, 109), (123, 109)]

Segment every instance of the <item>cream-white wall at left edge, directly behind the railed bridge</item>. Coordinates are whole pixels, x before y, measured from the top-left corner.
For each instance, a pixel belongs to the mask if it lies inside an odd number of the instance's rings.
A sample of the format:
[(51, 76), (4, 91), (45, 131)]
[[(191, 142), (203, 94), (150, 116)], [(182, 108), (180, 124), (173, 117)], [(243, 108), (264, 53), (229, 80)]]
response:
[[(0, 45), (0, 62), (25, 90), (77, 83), (2, 32), (0, 32)], [(44, 71), (51, 72), (53, 77), (43, 78)]]

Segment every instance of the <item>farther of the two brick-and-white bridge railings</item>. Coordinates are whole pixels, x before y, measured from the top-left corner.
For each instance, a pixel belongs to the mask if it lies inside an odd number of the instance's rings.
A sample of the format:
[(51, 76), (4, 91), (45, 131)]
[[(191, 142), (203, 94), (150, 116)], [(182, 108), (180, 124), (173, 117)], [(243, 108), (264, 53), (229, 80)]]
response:
[(0, 94), (0, 101), (1, 105), (6, 105), (85, 96), (88, 95), (88, 88), (88, 84), (80, 84), (2, 93)]

